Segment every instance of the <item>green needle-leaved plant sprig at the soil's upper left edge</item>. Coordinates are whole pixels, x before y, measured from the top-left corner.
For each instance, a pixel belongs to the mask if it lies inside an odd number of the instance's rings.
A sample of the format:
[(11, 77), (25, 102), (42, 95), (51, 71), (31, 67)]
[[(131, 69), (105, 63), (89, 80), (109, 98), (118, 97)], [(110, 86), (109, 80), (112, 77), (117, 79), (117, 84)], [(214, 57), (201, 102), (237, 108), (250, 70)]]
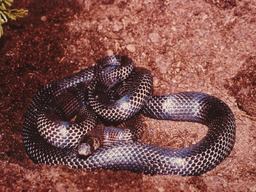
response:
[[(0, 38), (3, 35), (3, 23), (8, 21), (8, 18), (16, 20), (17, 17), (24, 17), (28, 10), (23, 9), (6, 9), (6, 6), (12, 6), (13, 0), (0, 0)], [(8, 18), (7, 18), (8, 17)]]

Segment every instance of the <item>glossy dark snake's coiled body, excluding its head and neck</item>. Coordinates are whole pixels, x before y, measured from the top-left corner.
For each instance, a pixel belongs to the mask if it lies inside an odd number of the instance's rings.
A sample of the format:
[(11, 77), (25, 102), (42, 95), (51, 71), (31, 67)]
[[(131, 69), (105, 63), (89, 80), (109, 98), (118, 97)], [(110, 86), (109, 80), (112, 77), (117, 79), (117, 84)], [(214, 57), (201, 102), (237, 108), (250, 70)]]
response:
[[(47, 84), (35, 94), (24, 118), (27, 155), (34, 163), (149, 175), (202, 175), (218, 166), (233, 150), (236, 138), (235, 118), (228, 105), (200, 92), (154, 95), (152, 83), (151, 73), (134, 67), (131, 58), (112, 55)], [(122, 124), (132, 122), (136, 116), (198, 122), (207, 125), (208, 132), (186, 148), (172, 149), (131, 139), (107, 142), (86, 156), (78, 154), (79, 140), (93, 131), (97, 122)], [(141, 131), (131, 132), (141, 135)]]

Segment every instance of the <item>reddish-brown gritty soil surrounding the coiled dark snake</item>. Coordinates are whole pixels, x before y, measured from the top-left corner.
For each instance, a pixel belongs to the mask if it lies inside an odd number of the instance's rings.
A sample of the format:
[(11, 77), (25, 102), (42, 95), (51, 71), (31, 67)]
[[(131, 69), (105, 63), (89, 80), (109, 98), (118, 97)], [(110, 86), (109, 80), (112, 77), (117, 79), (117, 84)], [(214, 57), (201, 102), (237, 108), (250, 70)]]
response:
[[(29, 13), (5, 24), (0, 39), (0, 191), (256, 192), (255, 0), (15, 0), (12, 8)], [(35, 93), (112, 54), (150, 70), (155, 94), (200, 91), (226, 102), (237, 125), (230, 156), (199, 177), (35, 165), (22, 141)], [(168, 148), (207, 133), (143, 121), (141, 142)]]

